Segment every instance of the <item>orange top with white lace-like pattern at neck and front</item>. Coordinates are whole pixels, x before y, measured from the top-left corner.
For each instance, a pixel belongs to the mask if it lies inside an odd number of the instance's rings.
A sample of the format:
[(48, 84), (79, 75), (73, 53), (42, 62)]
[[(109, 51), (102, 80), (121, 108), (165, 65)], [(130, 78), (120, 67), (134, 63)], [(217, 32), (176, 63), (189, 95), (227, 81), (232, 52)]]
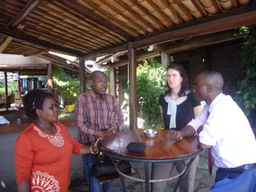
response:
[(55, 134), (46, 134), (31, 124), (17, 138), (16, 182), (30, 181), (30, 191), (66, 192), (70, 185), (71, 154), (80, 154), (76, 142), (61, 122)]

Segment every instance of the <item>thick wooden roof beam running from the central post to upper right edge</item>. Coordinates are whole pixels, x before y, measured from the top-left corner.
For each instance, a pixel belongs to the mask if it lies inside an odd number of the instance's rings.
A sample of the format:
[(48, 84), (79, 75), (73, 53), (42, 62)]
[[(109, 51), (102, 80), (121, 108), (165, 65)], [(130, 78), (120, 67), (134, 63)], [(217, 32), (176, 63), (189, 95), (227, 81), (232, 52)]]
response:
[(240, 26), (250, 26), (255, 23), (256, 7), (246, 7), (236, 11), (230, 10), (230, 12), (215, 15), (213, 18), (203, 18), (182, 26), (172, 27), (170, 31), (138, 40), (133, 43), (133, 46), (134, 48), (140, 48), (160, 42), (170, 42), (177, 38), (191, 38), (202, 34), (230, 30)]

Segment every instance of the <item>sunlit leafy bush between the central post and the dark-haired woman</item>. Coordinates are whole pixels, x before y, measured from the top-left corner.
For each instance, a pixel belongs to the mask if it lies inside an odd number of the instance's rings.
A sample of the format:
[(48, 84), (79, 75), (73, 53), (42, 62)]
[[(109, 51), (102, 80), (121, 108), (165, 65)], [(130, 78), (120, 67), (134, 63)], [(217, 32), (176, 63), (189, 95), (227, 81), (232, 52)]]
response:
[(158, 98), (166, 83), (166, 69), (154, 58), (143, 61), (137, 67), (138, 106), (143, 112), (145, 124), (162, 127)]

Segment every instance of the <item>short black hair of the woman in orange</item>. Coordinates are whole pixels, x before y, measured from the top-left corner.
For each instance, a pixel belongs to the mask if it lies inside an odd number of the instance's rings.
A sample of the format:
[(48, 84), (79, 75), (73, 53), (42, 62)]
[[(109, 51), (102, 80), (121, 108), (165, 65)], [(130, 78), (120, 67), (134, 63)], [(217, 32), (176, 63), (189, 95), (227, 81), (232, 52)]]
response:
[(53, 94), (45, 93), (43, 90), (34, 89), (30, 90), (24, 97), (23, 106), (25, 107), (26, 116), (28, 118), (38, 118), (38, 114), (35, 112), (36, 109), (42, 110), (43, 102), (46, 97), (54, 98)]

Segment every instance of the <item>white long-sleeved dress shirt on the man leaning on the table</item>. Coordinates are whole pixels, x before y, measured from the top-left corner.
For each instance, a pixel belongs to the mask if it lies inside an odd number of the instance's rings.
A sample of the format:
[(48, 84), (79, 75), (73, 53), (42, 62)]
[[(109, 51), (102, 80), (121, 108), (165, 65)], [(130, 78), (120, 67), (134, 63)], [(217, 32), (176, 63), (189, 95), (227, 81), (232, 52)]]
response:
[(199, 141), (212, 146), (216, 166), (230, 168), (256, 162), (256, 142), (250, 123), (229, 95), (218, 94), (188, 125), (194, 130), (203, 125)]

